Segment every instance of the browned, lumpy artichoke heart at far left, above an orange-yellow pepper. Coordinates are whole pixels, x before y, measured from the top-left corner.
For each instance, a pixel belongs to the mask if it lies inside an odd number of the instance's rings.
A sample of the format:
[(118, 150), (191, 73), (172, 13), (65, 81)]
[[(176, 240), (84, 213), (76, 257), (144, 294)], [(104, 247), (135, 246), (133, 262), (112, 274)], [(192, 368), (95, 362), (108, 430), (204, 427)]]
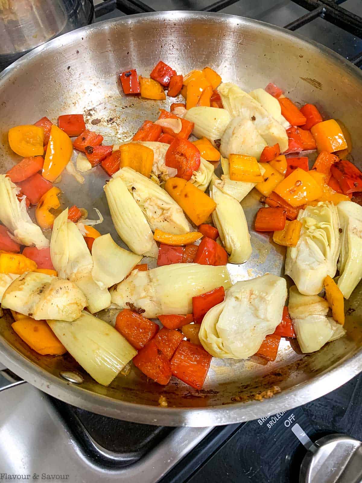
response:
[(5, 290), (1, 306), (35, 320), (76, 320), (87, 305), (83, 292), (69, 280), (28, 272)]

